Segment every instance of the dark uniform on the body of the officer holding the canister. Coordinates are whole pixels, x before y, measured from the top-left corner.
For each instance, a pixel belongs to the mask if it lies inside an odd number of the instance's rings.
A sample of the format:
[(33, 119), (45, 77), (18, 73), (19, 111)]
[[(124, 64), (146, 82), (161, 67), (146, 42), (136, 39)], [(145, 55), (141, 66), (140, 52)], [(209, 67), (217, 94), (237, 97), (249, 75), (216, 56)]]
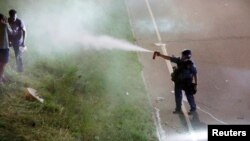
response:
[(185, 91), (188, 103), (190, 105), (190, 112), (196, 111), (196, 104), (193, 95), (193, 90), (191, 89), (193, 76), (197, 74), (196, 67), (191, 60), (182, 60), (178, 57), (171, 57), (171, 62), (177, 64), (177, 69), (179, 71), (175, 83), (175, 102), (176, 109), (174, 113), (181, 111), (182, 105), (182, 90)]

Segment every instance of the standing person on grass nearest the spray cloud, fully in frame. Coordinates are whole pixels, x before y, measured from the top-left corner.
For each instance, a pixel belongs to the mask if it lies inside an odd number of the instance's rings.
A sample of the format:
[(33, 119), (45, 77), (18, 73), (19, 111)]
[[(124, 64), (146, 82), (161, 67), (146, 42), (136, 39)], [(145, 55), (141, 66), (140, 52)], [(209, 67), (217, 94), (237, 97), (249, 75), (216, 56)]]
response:
[(17, 12), (14, 9), (9, 11), (8, 23), (13, 30), (9, 34), (10, 46), (13, 47), (16, 58), (17, 72), (23, 72), (23, 50), (25, 48), (26, 27), (24, 22), (17, 18)]

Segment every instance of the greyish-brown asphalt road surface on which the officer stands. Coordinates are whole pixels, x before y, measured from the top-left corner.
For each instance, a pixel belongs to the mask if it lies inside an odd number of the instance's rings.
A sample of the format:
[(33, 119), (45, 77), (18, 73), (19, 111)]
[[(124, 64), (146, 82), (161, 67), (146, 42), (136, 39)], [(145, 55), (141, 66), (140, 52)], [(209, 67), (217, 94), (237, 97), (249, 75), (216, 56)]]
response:
[(139, 46), (175, 56), (191, 49), (198, 69), (198, 113), (187, 115), (184, 99), (175, 115), (171, 64), (139, 53), (159, 140), (207, 140), (209, 124), (250, 123), (249, 0), (125, 1)]

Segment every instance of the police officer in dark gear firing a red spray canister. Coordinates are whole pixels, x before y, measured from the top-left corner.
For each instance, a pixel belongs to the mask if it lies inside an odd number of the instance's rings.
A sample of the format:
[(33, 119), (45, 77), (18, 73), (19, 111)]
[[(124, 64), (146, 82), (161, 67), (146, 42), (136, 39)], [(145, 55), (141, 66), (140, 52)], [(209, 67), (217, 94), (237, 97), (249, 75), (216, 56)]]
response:
[(185, 92), (188, 103), (190, 105), (190, 111), (188, 114), (196, 112), (196, 103), (194, 99), (194, 94), (197, 90), (197, 70), (191, 60), (192, 52), (191, 50), (185, 49), (181, 53), (181, 57), (167, 56), (163, 55), (160, 52), (155, 52), (156, 56), (162, 57), (164, 59), (170, 60), (172, 63), (177, 64), (175, 69), (175, 79), (174, 81), (174, 90), (175, 90), (175, 102), (176, 108), (173, 111), (174, 114), (181, 113), (182, 105), (182, 90)]

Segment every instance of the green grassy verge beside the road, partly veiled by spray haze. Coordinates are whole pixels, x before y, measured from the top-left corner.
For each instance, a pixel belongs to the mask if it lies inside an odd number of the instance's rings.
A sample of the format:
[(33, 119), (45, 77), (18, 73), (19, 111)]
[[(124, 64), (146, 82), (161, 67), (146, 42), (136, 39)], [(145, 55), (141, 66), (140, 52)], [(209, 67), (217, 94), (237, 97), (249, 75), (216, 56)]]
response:
[[(0, 87), (0, 140), (156, 140), (137, 54), (54, 44), (37, 29), (41, 28), (37, 27), (37, 15), (44, 11), (57, 14), (53, 6), (67, 8), (71, 1), (29, 2), (29, 6), (18, 0), (0, 2), (2, 13), (16, 7), (29, 31), (25, 72), (15, 72), (12, 52), (5, 72), (10, 82)], [(82, 21), (83, 25), (93, 34), (132, 41), (124, 2), (94, 2), (102, 18), (94, 24)], [(45, 103), (27, 101), (26, 87), (35, 88)]]

